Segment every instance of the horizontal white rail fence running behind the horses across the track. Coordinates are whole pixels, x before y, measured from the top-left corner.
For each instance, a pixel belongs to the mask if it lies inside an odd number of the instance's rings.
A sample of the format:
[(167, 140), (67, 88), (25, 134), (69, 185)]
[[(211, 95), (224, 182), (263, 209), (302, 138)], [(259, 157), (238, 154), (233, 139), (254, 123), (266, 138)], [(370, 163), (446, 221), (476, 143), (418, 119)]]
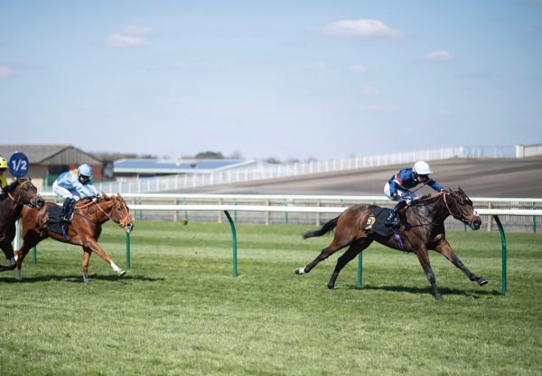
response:
[[(54, 193), (42, 193), (48, 201), (60, 202)], [(333, 208), (347, 208), (356, 204), (377, 204), (381, 207), (393, 207), (382, 195), (346, 196), (346, 195), (286, 195), (286, 194), (182, 194), (182, 193), (123, 193), (128, 206), (132, 209), (135, 220), (150, 221), (226, 221), (220, 210), (201, 211), (209, 205), (231, 205), (235, 221), (264, 224), (306, 224), (319, 226), (336, 215)], [(474, 207), (481, 211), (485, 230), (497, 230), (492, 213), (502, 210), (532, 212), (542, 208), (542, 198), (472, 198)], [(139, 206), (144, 205), (144, 206)], [(186, 206), (179, 206), (186, 205)], [(195, 207), (196, 209), (191, 209)], [(206, 206), (204, 206), (206, 205)], [(266, 211), (242, 211), (241, 207), (266, 207)], [(161, 208), (177, 208), (163, 210)], [(315, 211), (289, 211), (288, 207), (315, 207)], [(143, 209), (145, 208), (145, 210)], [(152, 209), (155, 208), (155, 209)], [(237, 209), (235, 209), (237, 208)], [(329, 209), (331, 208), (331, 209)], [(490, 210), (486, 213), (487, 210)], [(493, 211), (493, 212), (491, 212)], [(500, 221), (507, 230), (542, 231), (542, 219), (537, 215), (501, 215)], [(448, 218), (446, 228), (462, 230), (463, 223)]]

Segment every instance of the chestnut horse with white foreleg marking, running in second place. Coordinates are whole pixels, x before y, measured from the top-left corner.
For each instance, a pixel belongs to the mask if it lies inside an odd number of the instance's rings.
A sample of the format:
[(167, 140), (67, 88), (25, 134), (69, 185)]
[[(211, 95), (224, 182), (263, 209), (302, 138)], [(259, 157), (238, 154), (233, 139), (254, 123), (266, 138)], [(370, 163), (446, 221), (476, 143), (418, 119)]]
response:
[(97, 253), (117, 272), (118, 276), (124, 276), (126, 271), (118, 268), (117, 264), (109, 257), (107, 252), (98, 244), (98, 238), (102, 231), (102, 224), (108, 220), (114, 221), (126, 232), (134, 229), (134, 223), (130, 217), (126, 202), (117, 193), (111, 197), (102, 193), (97, 202), (90, 198), (82, 199), (75, 205), (75, 212), (68, 229), (70, 236), (66, 240), (61, 233), (46, 230), (43, 227), (45, 212), (56, 206), (53, 202), (46, 202), (41, 210), (24, 208), (21, 216), (23, 218), (23, 246), (17, 252), (17, 280), (22, 280), (21, 267), (23, 259), (30, 249), (40, 241), (51, 237), (51, 239), (78, 245), (83, 248), (83, 282), (89, 282), (89, 258), (92, 252)]

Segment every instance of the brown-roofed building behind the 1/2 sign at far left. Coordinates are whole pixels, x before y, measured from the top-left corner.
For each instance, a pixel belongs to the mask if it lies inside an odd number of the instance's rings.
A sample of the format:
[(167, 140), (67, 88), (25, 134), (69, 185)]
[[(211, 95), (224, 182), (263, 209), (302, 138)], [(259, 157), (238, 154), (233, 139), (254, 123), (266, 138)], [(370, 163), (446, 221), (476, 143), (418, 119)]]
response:
[[(71, 145), (0, 145), (0, 155), (9, 161), (15, 152), (28, 157), (29, 174), (32, 183), (42, 190), (50, 186), (56, 177), (79, 164), (92, 166), (93, 181), (102, 180), (103, 164), (98, 158)], [(11, 174), (7, 175), (8, 177)]]

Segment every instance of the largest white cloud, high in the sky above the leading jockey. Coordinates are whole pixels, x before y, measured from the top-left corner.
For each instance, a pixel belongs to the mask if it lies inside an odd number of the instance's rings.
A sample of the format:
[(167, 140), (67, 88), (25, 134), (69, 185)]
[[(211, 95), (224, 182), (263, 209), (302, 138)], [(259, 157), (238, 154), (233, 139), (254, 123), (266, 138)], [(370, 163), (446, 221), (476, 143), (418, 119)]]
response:
[(354, 37), (364, 39), (403, 39), (403, 33), (392, 29), (378, 20), (360, 18), (358, 20), (341, 20), (326, 24), (320, 33), (331, 36)]

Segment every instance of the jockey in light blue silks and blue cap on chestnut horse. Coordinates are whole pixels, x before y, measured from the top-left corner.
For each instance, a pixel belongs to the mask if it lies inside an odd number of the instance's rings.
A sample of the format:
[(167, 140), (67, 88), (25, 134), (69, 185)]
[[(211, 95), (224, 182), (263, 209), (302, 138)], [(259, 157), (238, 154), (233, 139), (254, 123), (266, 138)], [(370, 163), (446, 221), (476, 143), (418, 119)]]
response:
[(94, 201), (98, 198), (98, 190), (90, 182), (91, 178), (92, 167), (81, 164), (77, 169), (60, 174), (52, 183), (52, 192), (65, 199), (61, 214), (64, 223), (70, 222), (70, 211), (74, 202), (85, 197), (92, 197)]

